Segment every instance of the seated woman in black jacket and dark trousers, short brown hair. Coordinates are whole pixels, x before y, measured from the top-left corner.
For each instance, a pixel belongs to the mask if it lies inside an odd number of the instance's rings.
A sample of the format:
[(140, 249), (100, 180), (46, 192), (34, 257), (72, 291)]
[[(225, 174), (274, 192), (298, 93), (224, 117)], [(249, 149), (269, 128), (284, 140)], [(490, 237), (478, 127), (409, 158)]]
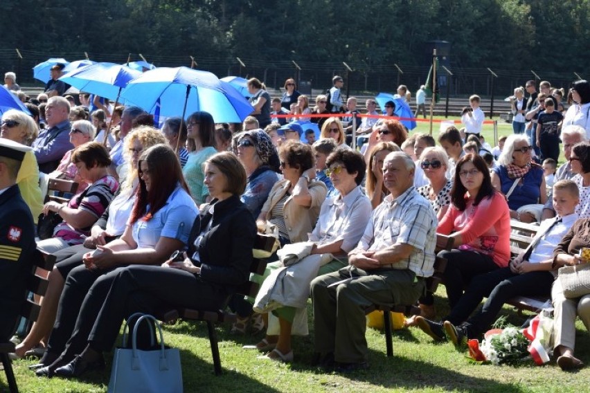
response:
[(215, 311), (224, 308), (235, 290), (249, 279), (256, 223), (240, 194), (246, 172), (230, 152), (211, 156), (205, 181), (213, 201), (202, 209), (191, 231), (188, 255), (162, 266), (129, 266), (119, 271), (94, 323), (86, 349), (60, 376), (80, 376), (104, 367), (123, 318), (136, 312), (154, 313), (163, 307)]

